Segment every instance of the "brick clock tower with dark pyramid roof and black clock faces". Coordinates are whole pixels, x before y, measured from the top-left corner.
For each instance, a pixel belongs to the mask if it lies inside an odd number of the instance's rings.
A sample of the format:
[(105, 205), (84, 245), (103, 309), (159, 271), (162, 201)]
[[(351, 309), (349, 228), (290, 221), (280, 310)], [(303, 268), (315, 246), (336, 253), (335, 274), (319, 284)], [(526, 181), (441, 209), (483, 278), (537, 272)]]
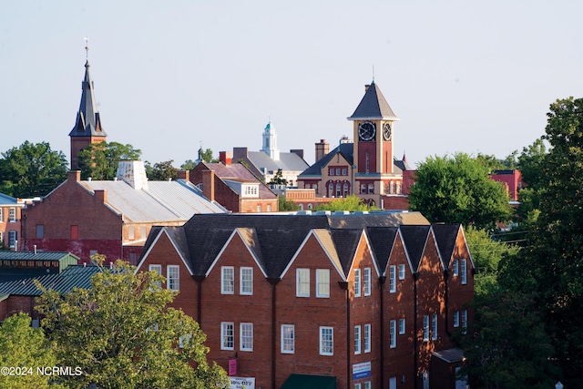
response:
[(353, 193), (376, 204), (379, 195), (391, 191), (387, 190), (391, 182), (402, 179), (401, 171), (394, 169), (393, 153), (394, 123), (399, 118), (373, 81), (364, 87), (364, 97), (348, 120), (353, 121)]

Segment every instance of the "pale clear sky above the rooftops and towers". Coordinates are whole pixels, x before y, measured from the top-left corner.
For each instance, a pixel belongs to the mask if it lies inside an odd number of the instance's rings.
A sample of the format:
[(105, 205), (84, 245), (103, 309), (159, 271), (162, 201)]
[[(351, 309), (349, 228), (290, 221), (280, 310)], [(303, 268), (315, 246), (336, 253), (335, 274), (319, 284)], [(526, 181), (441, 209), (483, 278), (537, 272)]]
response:
[[(353, 138), (373, 80), (412, 167), (503, 159), (583, 97), (578, 0), (168, 0), (0, 4), (0, 152), (48, 142), (69, 160), (86, 55), (107, 141), (177, 168), (197, 150), (281, 151)], [(85, 37), (89, 50), (86, 53)]]

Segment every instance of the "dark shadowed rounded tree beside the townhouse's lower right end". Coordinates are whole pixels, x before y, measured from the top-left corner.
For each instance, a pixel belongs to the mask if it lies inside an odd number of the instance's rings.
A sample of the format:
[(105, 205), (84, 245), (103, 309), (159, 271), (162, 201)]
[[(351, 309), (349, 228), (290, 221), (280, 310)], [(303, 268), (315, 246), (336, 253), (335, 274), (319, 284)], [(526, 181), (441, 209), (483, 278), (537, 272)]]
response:
[(468, 376), (471, 387), (554, 387), (560, 373), (549, 359), (553, 347), (532, 296), (496, 292), (473, 307), (474, 320), (454, 335), (464, 350), (460, 376)]

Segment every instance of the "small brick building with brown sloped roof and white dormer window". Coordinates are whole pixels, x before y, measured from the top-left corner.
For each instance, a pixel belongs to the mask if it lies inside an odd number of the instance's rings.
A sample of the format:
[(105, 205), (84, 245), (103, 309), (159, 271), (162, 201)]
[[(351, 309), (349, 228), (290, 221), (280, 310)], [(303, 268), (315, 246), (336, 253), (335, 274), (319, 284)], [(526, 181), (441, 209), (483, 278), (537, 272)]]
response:
[(251, 170), (232, 163), (229, 151), (220, 151), (218, 163), (201, 161), (194, 169), (180, 171), (179, 178), (202, 189), (204, 196), (231, 212), (277, 212), (278, 198)]

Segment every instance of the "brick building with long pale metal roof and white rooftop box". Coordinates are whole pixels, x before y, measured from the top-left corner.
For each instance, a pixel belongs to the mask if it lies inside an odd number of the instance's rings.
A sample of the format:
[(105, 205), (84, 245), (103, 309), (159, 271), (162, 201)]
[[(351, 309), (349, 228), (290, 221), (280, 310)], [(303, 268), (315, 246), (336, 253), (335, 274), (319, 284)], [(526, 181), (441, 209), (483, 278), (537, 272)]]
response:
[(136, 264), (152, 226), (225, 211), (189, 182), (148, 181), (141, 161), (127, 161), (111, 181), (81, 180), (79, 170), (69, 171), (65, 182), (23, 210), (22, 240), (28, 251), (70, 251), (83, 262), (99, 253)]

